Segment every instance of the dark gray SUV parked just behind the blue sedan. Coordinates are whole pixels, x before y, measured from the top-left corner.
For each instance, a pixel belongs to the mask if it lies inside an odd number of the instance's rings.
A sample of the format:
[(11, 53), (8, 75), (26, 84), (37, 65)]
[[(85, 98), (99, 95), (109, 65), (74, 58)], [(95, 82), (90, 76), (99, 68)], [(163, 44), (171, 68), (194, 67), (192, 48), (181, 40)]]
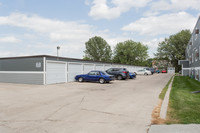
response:
[(129, 71), (126, 68), (110, 68), (106, 72), (114, 75), (118, 80), (129, 78)]

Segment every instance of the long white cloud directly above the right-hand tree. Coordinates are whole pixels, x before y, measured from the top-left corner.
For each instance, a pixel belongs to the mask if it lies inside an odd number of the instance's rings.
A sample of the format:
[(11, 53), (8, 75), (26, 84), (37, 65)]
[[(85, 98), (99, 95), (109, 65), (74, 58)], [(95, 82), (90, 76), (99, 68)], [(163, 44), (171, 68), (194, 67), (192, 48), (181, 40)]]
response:
[(182, 29), (194, 28), (197, 18), (186, 12), (164, 14), (140, 18), (124, 27), (122, 30), (136, 32), (145, 36), (170, 35)]

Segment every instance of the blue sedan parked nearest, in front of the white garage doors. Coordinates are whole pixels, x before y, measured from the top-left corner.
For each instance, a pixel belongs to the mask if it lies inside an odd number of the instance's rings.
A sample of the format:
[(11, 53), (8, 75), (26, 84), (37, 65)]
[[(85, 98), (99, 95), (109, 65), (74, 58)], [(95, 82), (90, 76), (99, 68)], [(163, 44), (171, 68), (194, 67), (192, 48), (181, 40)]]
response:
[(100, 84), (109, 83), (114, 80), (114, 76), (103, 71), (90, 71), (88, 74), (76, 75), (75, 79), (79, 82), (83, 81), (98, 81)]

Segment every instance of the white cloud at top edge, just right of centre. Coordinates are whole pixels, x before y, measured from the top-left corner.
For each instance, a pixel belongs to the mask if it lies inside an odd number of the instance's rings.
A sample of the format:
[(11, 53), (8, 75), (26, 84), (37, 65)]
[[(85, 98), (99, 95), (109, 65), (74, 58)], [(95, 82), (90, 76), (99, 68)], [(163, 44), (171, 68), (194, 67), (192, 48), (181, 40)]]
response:
[[(145, 7), (151, 0), (94, 0), (89, 16), (94, 19), (114, 19), (132, 7)], [(110, 2), (110, 5), (108, 4)]]

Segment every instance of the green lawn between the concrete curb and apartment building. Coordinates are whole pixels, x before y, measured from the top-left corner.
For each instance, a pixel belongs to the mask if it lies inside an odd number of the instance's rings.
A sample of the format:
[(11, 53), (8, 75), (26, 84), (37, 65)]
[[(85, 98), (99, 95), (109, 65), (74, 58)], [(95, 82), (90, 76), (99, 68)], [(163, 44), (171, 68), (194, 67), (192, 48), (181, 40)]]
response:
[(175, 76), (170, 93), (167, 123), (200, 124), (200, 82)]

